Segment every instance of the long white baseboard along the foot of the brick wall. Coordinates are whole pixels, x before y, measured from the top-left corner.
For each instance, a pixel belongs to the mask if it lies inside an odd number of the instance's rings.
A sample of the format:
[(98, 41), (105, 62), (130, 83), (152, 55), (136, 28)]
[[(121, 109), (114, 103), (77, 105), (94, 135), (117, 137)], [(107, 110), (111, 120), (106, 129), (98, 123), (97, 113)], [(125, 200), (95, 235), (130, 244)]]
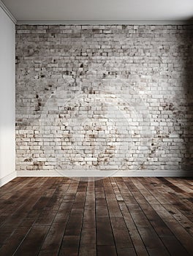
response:
[(18, 177), (193, 177), (193, 170), (18, 170)]

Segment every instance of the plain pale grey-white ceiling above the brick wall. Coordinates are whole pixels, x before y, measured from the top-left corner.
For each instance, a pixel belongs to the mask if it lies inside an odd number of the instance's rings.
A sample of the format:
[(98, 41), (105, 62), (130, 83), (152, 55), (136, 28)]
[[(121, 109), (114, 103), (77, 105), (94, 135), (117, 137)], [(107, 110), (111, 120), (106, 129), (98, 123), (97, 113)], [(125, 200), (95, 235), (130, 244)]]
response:
[(17, 20), (189, 20), (193, 0), (2, 0)]

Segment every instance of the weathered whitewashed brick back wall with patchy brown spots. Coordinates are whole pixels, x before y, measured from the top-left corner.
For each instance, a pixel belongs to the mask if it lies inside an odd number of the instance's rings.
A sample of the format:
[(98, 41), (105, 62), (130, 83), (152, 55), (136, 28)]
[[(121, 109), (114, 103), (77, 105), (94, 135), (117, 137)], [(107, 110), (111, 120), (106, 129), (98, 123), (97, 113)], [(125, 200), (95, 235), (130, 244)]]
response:
[(190, 170), (192, 26), (17, 26), (17, 170)]

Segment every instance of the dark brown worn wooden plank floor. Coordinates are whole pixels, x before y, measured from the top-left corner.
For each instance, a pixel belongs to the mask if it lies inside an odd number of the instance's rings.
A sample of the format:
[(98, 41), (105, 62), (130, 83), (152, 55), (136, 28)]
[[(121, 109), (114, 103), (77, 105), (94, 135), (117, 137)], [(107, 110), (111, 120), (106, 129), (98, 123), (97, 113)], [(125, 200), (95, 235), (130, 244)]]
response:
[(193, 179), (15, 178), (0, 255), (193, 255)]

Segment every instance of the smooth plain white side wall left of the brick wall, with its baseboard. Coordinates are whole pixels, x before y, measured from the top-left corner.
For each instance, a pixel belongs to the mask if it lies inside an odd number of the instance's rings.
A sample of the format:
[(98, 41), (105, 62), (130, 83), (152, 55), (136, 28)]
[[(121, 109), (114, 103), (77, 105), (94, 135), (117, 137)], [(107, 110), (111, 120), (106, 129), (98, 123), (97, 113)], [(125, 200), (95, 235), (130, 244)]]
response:
[(0, 7), (0, 186), (15, 177), (15, 24)]

